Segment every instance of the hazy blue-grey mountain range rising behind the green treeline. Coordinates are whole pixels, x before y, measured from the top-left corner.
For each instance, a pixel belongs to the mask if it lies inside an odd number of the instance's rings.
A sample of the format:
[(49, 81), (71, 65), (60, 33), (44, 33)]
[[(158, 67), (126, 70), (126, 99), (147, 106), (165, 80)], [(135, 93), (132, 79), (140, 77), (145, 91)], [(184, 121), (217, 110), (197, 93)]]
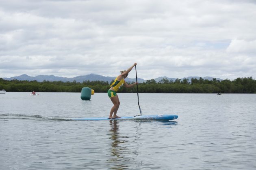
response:
[[(88, 75), (85, 75), (85, 76), (77, 76), (77, 77), (72, 77), (72, 78), (57, 77), (57, 76), (54, 76), (54, 75), (50, 75), (50, 76), (49, 75), (38, 75), (38, 76), (32, 77), (32, 76), (28, 76), (27, 74), (22, 74), (20, 76), (10, 77), (10, 78), (5, 78), (4, 77), (2, 79), (4, 79), (4, 80), (16, 79), (16, 80), (27, 80), (27, 81), (36, 80), (36, 81), (39, 81), (39, 82), (42, 82), (44, 80), (46, 80), (46, 81), (63, 81), (63, 82), (76, 81), (76, 82), (80, 82), (80, 83), (82, 83), (83, 81), (88, 81), (89, 80), (89, 81), (108, 81), (108, 83), (110, 83), (115, 78), (116, 77), (105, 77), (105, 76), (102, 76), (102, 75), (99, 75), (99, 74), (88, 74)], [(200, 79), (200, 77), (184, 77), (184, 78), (181, 79), (181, 81), (183, 79), (189, 79), (189, 82), (190, 82), (191, 78)], [(214, 77), (202, 77), (202, 78), (207, 79), (207, 80), (212, 80)], [(144, 80), (144, 79), (140, 79), (140, 78), (137, 78), (137, 79), (138, 79), (139, 83), (146, 82), (146, 80)], [(169, 77), (158, 77), (154, 80), (156, 82), (159, 82), (162, 79), (168, 79), (169, 81), (175, 81), (176, 80), (176, 78), (169, 78)], [(217, 78), (217, 80), (221, 81), (222, 79)], [(130, 78), (127, 77), (126, 82), (136, 82), (136, 78), (130, 79)]]

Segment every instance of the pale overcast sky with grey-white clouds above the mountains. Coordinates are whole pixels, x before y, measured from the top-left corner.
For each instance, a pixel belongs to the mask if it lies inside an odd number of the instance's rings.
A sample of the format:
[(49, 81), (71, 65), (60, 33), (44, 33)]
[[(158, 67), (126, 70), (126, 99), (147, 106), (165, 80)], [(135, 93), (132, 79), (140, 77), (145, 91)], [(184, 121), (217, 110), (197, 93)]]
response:
[(146, 80), (256, 79), (256, 0), (0, 0), (0, 77), (115, 77), (135, 62)]

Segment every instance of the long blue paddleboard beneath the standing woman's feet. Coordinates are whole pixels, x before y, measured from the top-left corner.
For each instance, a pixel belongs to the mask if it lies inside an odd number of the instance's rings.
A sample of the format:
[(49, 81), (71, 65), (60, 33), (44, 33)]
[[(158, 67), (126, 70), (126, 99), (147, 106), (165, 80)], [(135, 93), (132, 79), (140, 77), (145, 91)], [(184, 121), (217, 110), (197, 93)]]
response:
[(80, 120), (80, 121), (98, 121), (98, 120), (174, 120), (177, 119), (178, 115), (142, 115), (142, 116), (132, 116), (132, 117), (121, 117), (118, 119), (108, 119), (108, 117), (78, 117), (72, 118), (71, 120)]

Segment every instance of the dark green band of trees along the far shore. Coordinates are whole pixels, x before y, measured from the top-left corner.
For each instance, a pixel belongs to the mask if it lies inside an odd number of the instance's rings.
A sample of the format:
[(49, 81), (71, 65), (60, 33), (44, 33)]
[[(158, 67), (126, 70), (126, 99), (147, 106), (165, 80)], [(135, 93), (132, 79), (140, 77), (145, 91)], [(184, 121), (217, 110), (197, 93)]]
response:
[[(111, 82), (112, 83), (112, 82)], [(82, 87), (90, 87), (95, 93), (107, 92), (110, 84), (105, 81), (84, 81), (79, 83), (62, 81), (7, 81), (0, 78), (0, 89), (15, 92), (81, 92)], [(130, 83), (130, 82), (128, 82)], [(133, 82), (132, 82), (133, 83)], [(204, 80), (202, 78), (169, 81), (162, 79), (156, 83), (154, 79), (139, 83), (139, 93), (256, 93), (256, 80), (252, 77), (237, 78), (233, 81), (229, 79), (218, 81)], [(133, 88), (121, 88), (118, 92), (137, 92), (136, 86)]]

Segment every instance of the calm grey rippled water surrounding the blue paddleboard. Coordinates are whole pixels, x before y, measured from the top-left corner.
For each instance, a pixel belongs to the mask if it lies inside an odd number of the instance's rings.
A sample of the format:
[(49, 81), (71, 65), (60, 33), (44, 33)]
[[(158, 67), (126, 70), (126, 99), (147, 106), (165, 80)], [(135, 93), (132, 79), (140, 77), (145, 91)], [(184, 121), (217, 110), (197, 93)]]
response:
[[(67, 121), (107, 117), (106, 93), (0, 95), (0, 169), (256, 169), (256, 94), (139, 94), (143, 115), (175, 121)], [(119, 93), (119, 116), (139, 114)]]

